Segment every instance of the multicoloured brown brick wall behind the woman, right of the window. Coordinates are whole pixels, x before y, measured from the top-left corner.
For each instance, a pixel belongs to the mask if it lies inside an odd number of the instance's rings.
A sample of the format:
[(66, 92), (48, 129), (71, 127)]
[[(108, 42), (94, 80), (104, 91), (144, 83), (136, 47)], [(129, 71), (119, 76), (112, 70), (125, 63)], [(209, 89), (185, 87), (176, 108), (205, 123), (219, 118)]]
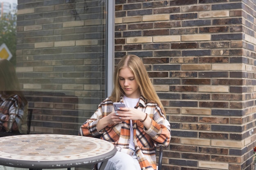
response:
[(116, 0), (116, 63), (142, 58), (171, 123), (164, 170), (251, 170), (255, 0)]

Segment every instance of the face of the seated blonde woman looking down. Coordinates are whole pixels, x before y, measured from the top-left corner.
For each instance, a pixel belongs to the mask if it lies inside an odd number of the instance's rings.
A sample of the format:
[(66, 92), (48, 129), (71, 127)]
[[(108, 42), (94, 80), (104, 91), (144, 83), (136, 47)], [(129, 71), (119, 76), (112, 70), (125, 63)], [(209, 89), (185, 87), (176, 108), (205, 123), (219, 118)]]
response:
[(129, 98), (139, 98), (140, 91), (139, 86), (135, 80), (135, 77), (128, 67), (121, 68), (118, 75), (118, 82), (123, 89), (125, 95)]

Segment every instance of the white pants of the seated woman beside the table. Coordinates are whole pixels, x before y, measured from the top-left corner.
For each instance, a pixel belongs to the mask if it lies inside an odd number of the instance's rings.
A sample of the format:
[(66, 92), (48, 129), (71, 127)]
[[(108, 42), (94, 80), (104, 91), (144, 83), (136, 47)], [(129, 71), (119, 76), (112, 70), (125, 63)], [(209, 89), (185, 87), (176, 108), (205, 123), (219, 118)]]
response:
[[(97, 164), (99, 169), (101, 163)], [(136, 155), (130, 156), (124, 152), (117, 151), (116, 155), (108, 159), (105, 170), (141, 170)]]

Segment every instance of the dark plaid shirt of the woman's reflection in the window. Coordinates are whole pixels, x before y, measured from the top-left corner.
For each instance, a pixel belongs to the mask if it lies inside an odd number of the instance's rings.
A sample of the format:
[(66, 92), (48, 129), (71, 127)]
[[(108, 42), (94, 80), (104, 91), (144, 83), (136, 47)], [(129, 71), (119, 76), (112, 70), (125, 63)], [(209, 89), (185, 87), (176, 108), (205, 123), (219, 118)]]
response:
[[(11, 132), (11, 127), (16, 121), (18, 127), (22, 124), (22, 117), (24, 114), (24, 104), (18, 95), (13, 95), (5, 99), (0, 95), (0, 130), (1, 132)], [(8, 118), (9, 117), (9, 118)], [(7, 120), (5, 120), (7, 118)], [(7, 129), (2, 127), (4, 121), (8, 121)]]

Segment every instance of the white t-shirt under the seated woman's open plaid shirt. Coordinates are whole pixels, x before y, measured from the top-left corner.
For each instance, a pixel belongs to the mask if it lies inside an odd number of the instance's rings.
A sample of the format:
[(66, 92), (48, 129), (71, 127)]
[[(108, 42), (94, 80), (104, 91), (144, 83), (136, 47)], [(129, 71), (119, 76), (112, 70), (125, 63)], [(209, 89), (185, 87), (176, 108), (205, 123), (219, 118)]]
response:
[[(139, 102), (139, 98), (132, 99), (132, 98), (124, 96), (124, 103), (126, 104), (126, 107), (128, 107), (128, 108), (134, 108), (138, 102)], [(134, 142), (133, 142), (132, 120), (130, 120), (130, 143), (129, 143), (129, 148), (131, 148), (132, 150), (135, 150), (135, 145), (134, 145)]]

